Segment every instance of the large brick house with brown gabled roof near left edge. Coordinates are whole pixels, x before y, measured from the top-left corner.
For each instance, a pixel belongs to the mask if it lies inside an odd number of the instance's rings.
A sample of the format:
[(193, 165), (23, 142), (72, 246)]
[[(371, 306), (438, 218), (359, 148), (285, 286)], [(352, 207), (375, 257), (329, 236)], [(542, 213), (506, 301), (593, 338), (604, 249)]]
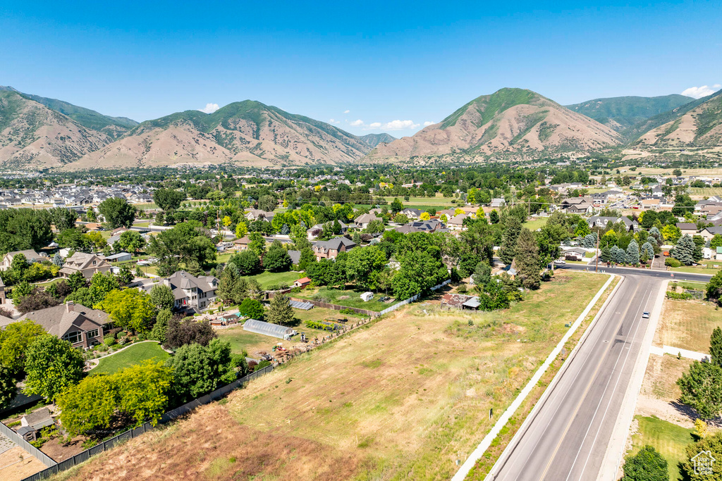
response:
[(18, 319), (30, 319), (74, 348), (88, 349), (103, 342), (103, 334), (108, 332), (112, 321), (108, 314), (90, 309), (82, 304), (67, 301), (65, 304), (28, 312)]

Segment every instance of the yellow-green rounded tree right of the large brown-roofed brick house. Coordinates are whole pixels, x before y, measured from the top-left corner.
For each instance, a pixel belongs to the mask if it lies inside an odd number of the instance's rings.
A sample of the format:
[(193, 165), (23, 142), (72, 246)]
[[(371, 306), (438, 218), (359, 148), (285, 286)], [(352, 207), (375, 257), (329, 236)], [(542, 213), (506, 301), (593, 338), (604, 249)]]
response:
[(110, 291), (100, 303), (100, 309), (108, 312), (118, 327), (148, 332), (155, 317), (154, 304), (148, 294), (138, 289), (124, 289)]

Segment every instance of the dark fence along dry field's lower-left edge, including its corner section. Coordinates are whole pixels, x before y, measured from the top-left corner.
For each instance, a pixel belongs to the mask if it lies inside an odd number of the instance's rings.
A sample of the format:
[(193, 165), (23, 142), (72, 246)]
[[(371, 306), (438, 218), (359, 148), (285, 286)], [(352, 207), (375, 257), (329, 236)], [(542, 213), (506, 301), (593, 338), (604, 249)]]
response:
[[(219, 387), (213, 392), (210, 392), (209, 394), (206, 394), (205, 396), (201, 396), (196, 400), (193, 400), (191, 402), (188, 402), (187, 404), (184, 404), (180, 407), (176, 407), (172, 411), (166, 412), (164, 415), (160, 417), (160, 423), (168, 423), (169, 421), (175, 420), (177, 418), (180, 418), (182, 415), (188, 414), (188, 412), (191, 412), (192, 410), (196, 409), (196, 407), (208, 404), (209, 402), (218, 400), (222, 397), (224, 397), (226, 394), (231, 392), (234, 389), (238, 389), (241, 385), (245, 384), (248, 381), (251, 381), (253, 379), (256, 379), (259, 376), (263, 376), (266, 373), (269, 373), (273, 371), (273, 366), (266, 366), (263, 369), (259, 369), (258, 371), (252, 372), (251, 374), (248, 374), (248, 376), (243, 376), (240, 379), (236, 379), (230, 384), (226, 384), (223, 387)], [(140, 436), (141, 434), (147, 433), (147, 431), (152, 431), (153, 425), (151, 423), (145, 423), (143, 425), (139, 425), (137, 428), (133, 428), (129, 431), (126, 431), (124, 433), (118, 434), (118, 436), (115, 436), (113, 438), (108, 439), (107, 441), (103, 441), (100, 444), (97, 444), (96, 446), (93, 446), (90, 449), (86, 449), (85, 451), (82, 451), (82, 453), (78, 453), (75, 456), (66, 459), (63, 462), (56, 463), (48, 457), (46, 454), (43, 454), (43, 452), (39, 451), (38, 449), (35, 449), (34, 447), (30, 446), (24, 439), (22, 439), (20, 436), (17, 435), (12, 429), (8, 428), (6, 425), (0, 423), (0, 431), (12, 439), (12, 441), (15, 441), (17, 444), (19, 444), (23, 449), (28, 451), (33, 456), (37, 457), (45, 463), (46, 466), (48, 466), (48, 469), (44, 469), (43, 471), (36, 472), (35, 475), (28, 476), (22, 481), (40, 481), (44, 480), (46, 477), (50, 477), (52, 475), (55, 475), (58, 472), (65, 471), (66, 469), (70, 469), (71, 467), (74, 467), (77, 464), (80, 464), (82, 462), (86, 462), (88, 459), (90, 459), (92, 456), (95, 456), (96, 454), (100, 454), (103, 451), (106, 451), (113, 446), (116, 446), (116, 444), (119, 444), (123, 441), (128, 441), (129, 439), (136, 438)], [(9, 433), (6, 433), (6, 431), (10, 431)], [(17, 441), (19, 438), (19, 441), (22, 441), (22, 444)], [(45, 459), (48, 460), (48, 462), (45, 462)]]

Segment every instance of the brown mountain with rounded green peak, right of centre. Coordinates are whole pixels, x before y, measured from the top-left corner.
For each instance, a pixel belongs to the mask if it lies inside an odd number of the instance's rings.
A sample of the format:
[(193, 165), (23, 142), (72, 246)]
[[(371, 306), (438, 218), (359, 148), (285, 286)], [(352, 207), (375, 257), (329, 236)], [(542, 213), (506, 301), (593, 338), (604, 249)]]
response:
[(441, 123), (374, 149), (371, 160), (461, 153), (591, 151), (619, 144), (611, 128), (524, 89), (501, 89), (472, 100)]

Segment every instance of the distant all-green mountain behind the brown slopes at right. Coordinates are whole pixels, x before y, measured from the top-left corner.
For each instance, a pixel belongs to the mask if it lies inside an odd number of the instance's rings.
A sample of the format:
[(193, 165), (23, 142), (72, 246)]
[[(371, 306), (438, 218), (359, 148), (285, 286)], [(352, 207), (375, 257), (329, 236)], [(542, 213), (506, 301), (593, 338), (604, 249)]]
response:
[(632, 125), (644, 122), (663, 112), (674, 110), (690, 101), (692, 101), (692, 97), (672, 94), (661, 97), (610, 97), (587, 100), (565, 107), (608, 125), (617, 132), (625, 133)]

